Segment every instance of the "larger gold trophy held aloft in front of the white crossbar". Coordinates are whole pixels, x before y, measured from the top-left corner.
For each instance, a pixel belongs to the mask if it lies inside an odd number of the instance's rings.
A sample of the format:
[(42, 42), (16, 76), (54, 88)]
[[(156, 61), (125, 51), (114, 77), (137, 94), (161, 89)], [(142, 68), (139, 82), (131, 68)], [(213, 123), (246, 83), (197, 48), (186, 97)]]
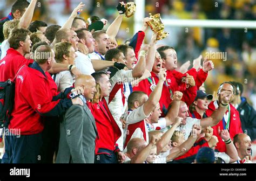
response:
[(161, 40), (169, 36), (169, 33), (164, 31), (164, 24), (162, 23), (160, 14), (150, 15), (150, 21), (147, 24), (150, 26), (151, 30), (157, 33), (157, 40)]

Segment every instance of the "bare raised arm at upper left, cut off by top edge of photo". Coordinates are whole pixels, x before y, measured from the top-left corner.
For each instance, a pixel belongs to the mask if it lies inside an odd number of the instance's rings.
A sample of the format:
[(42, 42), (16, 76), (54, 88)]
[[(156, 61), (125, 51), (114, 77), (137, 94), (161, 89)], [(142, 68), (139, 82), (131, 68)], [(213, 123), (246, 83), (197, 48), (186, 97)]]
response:
[(32, 0), (24, 12), (23, 16), (21, 17), (21, 20), (19, 21), (19, 27), (23, 29), (28, 29), (29, 24), (31, 23), (33, 13), (36, 7), (37, 0)]

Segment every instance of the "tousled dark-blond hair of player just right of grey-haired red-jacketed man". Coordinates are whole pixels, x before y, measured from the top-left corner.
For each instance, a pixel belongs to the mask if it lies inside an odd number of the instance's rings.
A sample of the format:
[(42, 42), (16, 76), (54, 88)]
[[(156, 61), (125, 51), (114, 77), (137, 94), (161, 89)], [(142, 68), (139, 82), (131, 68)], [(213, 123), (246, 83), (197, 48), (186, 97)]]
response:
[(69, 42), (59, 42), (53, 46), (53, 51), (55, 53), (55, 60), (57, 63), (63, 61), (63, 55), (69, 56), (69, 50), (72, 44)]

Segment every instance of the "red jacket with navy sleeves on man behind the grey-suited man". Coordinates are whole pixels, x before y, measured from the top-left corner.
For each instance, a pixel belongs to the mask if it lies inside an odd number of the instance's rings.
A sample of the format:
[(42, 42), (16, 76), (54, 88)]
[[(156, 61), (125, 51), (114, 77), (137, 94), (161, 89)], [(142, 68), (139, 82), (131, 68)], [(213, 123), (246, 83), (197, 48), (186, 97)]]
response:
[[(31, 68), (32, 67), (32, 68)], [(53, 96), (53, 80), (48, 72), (34, 62), (19, 71), (15, 84), (15, 104), (9, 129), (21, 129), (21, 135), (41, 133), (44, 129), (43, 116), (63, 114), (72, 106), (70, 99), (61, 99), (63, 94)]]

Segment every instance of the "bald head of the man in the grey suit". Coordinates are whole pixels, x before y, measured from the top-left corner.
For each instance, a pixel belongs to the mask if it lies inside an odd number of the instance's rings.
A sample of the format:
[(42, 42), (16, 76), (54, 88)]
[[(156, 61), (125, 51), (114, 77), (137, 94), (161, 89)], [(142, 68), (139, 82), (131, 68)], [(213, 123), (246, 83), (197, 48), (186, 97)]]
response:
[(95, 79), (91, 75), (79, 75), (75, 82), (75, 87), (84, 88), (84, 97), (87, 100), (93, 99), (93, 95), (96, 93)]

